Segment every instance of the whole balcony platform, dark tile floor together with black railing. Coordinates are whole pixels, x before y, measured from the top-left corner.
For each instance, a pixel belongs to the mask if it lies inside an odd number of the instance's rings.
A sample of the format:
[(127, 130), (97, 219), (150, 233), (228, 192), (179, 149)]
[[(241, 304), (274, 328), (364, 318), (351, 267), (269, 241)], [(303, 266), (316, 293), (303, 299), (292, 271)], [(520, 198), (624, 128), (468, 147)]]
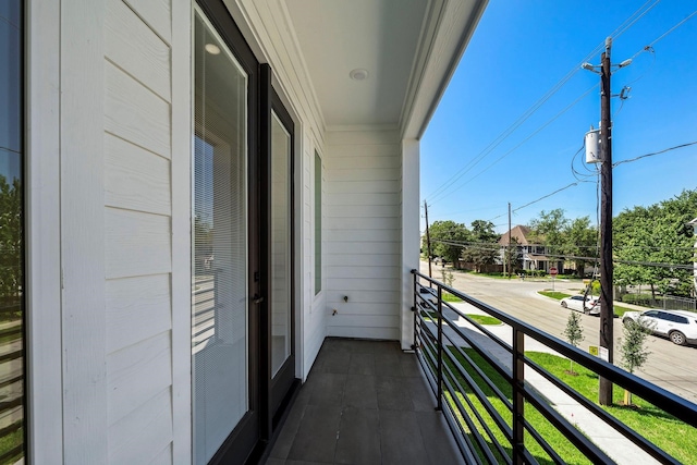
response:
[[(542, 368), (526, 345), (543, 346), (604, 377), (689, 432), (697, 427), (697, 405), (413, 274), (415, 353), (391, 342), (327, 339), (266, 463), (685, 461)], [(443, 292), (503, 325), (496, 333), (488, 330), (444, 302)]]

